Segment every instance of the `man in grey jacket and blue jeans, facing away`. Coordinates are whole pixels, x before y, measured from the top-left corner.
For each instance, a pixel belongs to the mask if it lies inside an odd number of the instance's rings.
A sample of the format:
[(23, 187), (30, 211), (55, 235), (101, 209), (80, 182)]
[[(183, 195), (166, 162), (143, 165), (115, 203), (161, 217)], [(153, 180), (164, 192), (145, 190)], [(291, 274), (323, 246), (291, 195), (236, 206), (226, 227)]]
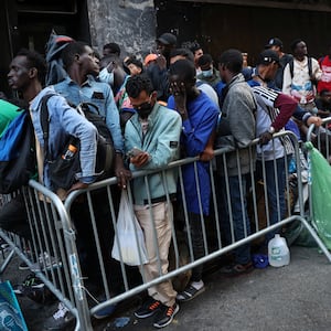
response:
[[(226, 86), (222, 93), (222, 120), (217, 128), (221, 137), (217, 139), (221, 146), (226, 146), (228, 143), (227, 138), (231, 138), (233, 147), (237, 148), (236, 151), (225, 154), (225, 163), (223, 159), (220, 159), (221, 164), (217, 167), (220, 171), (217, 184), (220, 185), (221, 193), (221, 199), (217, 202), (218, 215), (226, 244), (238, 242), (250, 234), (245, 192), (246, 175), (253, 170), (250, 169), (250, 164), (255, 162), (255, 150), (249, 148), (249, 145), (256, 137), (256, 100), (250, 87), (245, 82), (242, 70), (242, 52), (227, 50), (221, 55), (218, 71)], [(222, 139), (224, 139), (224, 142), (222, 142)], [(226, 190), (227, 186), (229, 192)], [(229, 211), (229, 207), (232, 211)], [(232, 233), (234, 233), (234, 237)], [(252, 271), (253, 264), (249, 244), (239, 246), (234, 253), (234, 263), (224, 267), (222, 271), (228, 276), (237, 276)]]

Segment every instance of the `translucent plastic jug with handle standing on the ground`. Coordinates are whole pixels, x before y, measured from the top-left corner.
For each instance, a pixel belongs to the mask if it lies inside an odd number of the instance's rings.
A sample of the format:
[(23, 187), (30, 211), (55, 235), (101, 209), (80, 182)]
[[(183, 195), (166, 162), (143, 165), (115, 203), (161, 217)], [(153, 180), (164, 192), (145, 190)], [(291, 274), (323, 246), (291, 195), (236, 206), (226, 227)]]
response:
[(287, 266), (290, 263), (290, 253), (286, 244), (286, 239), (279, 234), (268, 244), (269, 265), (273, 267)]

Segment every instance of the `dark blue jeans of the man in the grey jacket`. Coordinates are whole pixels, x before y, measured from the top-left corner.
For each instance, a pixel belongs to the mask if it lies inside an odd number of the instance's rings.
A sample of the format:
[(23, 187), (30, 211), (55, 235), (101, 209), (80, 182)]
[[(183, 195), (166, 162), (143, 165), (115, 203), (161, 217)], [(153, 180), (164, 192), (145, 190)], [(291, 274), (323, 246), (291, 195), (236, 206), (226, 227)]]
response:
[[(250, 225), (247, 214), (246, 175), (243, 174), (241, 181), (238, 175), (228, 177), (231, 205), (228, 205), (227, 202), (225, 180), (226, 179), (224, 177), (221, 177), (218, 181), (221, 199), (217, 204), (217, 210), (221, 222), (221, 231), (225, 236), (226, 245), (228, 245), (248, 236), (250, 234)], [(234, 249), (234, 253), (236, 264), (245, 265), (250, 261), (250, 244), (239, 246)]]

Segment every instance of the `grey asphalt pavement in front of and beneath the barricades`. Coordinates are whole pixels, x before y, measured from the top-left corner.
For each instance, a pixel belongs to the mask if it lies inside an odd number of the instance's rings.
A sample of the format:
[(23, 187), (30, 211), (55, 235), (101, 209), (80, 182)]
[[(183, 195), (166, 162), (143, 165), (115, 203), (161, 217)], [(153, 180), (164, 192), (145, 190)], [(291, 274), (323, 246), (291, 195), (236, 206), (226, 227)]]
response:
[[(291, 261), (281, 268), (255, 269), (252, 274), (225, 278), (220, 271), (204, 277), (206, 290), (182, 303), (167, 331), (329, 331), (331, 330), (331, 264), (318, 248), (290, 248)], [(21, 279), (13, 266), (2, 275), (12, 285)], [(41, 331), (51, 308), (19, 298), (30, 331)], [(138, 320), (131, 307), (111, 319), (96, 321), (94, 330), (149, 331), (152, 318)], [(129, 323), (116, 327), (118, 318)]]

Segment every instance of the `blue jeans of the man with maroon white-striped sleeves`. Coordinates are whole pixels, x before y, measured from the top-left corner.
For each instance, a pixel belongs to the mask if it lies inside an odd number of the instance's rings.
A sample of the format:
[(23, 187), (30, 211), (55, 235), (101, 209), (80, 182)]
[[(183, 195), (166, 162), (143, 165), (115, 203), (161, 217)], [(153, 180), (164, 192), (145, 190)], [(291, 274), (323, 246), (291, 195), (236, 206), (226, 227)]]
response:
[[(276, 162), (276, 169), (275, 169)], [(263, 162), (256, 162), (256, 180), (265, 181), (265, 189), (267, 189), (269, 220), (270, 225), (278, 223), (286, 215), (285, 201), (285, 158), (277, 160), (265, 161), (266, 179), (263, 178)], [(277, 185), (278, 188), (277, 188)], [(266, 235), (266, 244), (275, 236), (278, 231), (269, 232)]]

